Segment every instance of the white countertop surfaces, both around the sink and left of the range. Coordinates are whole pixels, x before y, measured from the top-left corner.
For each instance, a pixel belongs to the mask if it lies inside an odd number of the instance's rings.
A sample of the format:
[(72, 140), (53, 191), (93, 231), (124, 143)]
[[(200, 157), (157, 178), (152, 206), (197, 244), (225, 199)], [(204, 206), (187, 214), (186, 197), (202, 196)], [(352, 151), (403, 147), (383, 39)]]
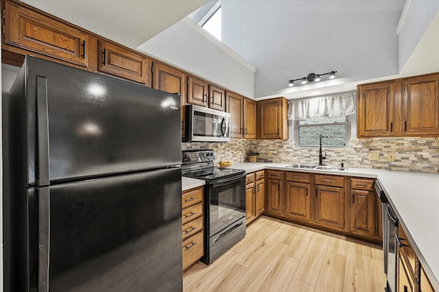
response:
[[(412, 239), (421, 264), (428, 265), (426, 272), (436, 290), (439, 290), (439, 174), (396, 172), (370, 168), (348, 168), (347, 172), (285, 168), (291, 163), (235, 163), (230, 168), (246, 170), (289, 170), (343, 176), (377, 178), (388, 194), (403, 227)], [(204, 181), (183, 178), (183, 190), (204, 185)], [(434, 276), (436, 279), (432, 279)]]

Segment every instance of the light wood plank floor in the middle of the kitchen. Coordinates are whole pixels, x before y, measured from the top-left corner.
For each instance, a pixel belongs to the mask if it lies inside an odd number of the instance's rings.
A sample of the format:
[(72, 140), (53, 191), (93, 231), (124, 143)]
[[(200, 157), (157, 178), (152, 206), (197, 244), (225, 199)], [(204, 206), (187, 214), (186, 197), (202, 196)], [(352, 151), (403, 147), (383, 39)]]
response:
[(192, 291), (383, 291), (381, 246), (259, 217), (211, 265), (183, 275)]

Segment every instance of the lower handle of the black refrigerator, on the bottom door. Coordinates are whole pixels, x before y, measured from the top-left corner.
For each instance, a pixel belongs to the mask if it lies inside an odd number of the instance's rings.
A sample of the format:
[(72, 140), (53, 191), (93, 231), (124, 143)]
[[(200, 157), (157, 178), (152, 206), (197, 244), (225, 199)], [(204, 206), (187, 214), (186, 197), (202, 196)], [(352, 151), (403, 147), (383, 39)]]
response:
[(50, 191), (38, 189), (38, 292), (49, 291)]

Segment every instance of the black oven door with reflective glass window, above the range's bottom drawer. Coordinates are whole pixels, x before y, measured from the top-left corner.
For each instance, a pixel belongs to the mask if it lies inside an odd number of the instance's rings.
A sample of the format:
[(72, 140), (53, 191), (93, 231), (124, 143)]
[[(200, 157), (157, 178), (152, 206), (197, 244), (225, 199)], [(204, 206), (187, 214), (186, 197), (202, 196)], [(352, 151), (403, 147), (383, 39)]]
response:
[(209, 183), (209, 237), (246, 217), (246, 174)]

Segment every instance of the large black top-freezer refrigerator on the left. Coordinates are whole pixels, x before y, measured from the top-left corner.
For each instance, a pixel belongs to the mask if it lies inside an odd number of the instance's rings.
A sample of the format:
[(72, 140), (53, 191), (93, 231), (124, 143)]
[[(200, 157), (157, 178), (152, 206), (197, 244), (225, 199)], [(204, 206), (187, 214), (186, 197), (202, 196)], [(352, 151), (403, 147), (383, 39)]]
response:
[(3, 110), (11, 291), (182, 291), (180, 96), (27, 56)]

